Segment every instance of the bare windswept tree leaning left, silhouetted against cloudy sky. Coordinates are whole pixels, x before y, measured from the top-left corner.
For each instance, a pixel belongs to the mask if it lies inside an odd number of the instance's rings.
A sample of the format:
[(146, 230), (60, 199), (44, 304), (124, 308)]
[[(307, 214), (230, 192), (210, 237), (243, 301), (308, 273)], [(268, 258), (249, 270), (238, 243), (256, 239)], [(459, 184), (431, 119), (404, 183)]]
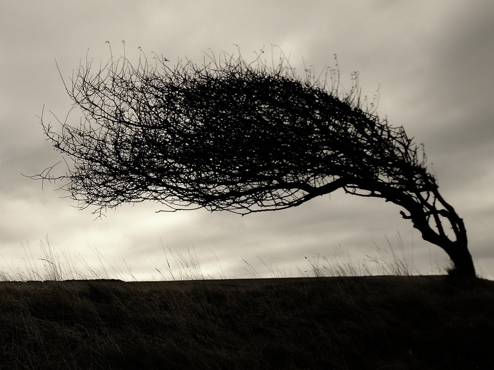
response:
[(427, 171), (423, 146), (360, 99), (358, 74), (342, 93), (338, 71), (301, 78), (285, 58), (268, 67), (261, 55), (250, 64), (240, 53), (210, 55), (201, 67), (188, 60), (173, 68), (156, 55), (152, 66), (142, 54), (136, 68), (112, 57), (95, 74), (86, 61), (65, 85), (80, 124), (59, 121), (58, 134), (41, 115), (73, 164), (63, 176), (52, 176), (52, 166), (35, 178), (65, 180), (70, 197), (99, 215), (144, 200), (164, 211), (248, 214), (342, 188), (401, 206), (456, 275), (475, 277), (465, 225)]

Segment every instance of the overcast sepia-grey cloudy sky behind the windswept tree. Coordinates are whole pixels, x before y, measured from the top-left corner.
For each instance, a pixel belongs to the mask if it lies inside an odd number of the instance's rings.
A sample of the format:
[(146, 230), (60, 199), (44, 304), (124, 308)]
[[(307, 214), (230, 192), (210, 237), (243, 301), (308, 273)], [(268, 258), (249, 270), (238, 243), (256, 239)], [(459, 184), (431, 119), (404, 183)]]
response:
[[(124, 40), (131, 61), (139, 47), (201, 63), (206, 52), (234, 54), (238, 45), (247, 61), (263, 48), (281, 49), (296, 71), (304, 63), (321, 71), (334, 67), (336, 54), (343, 86), (358, 71), (362, 95), (379, 87), (379, 116), (424, 144), (441, 194), (466, 224), (478, 273), (494, 279), (492, 1), (0, 0), (0, 35), (0, 271), (7, 276), (42, 275), (45, 266), (49, 274), (58, 265), (81, 273), (89, 266), (93, 275), (113, 268), (119, 275), (107, 277), (123, 280), (176, 278), (194, 271), (189, 256), (205, 277), (300, 276), (309, 260), (323, 266), (323, 257), (376, 268), (373, 261), (391, 250), (414, 273), (448, 265), (398, 206), (378, 198), (336, 191), (243, 217), (126, 204), (95, 220), (57, 185), (22, 176), (62, 159), (38, 117), (43, 106), (59, 118), (69, 112), (60, 74), (70, 80), (86, 56), (106, 62), (106, 41), (122, 55)], [(80, 117), (72, 111), (68, 119)], [(43, 261), (49, 253), (54, 264)]]

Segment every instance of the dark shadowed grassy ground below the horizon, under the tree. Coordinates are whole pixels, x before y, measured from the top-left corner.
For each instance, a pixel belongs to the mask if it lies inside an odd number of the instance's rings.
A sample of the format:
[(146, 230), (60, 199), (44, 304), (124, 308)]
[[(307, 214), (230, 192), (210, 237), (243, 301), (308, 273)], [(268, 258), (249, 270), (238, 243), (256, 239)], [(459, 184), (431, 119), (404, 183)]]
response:
[(0, 369), (492, 369), (494, 282), (0, 282)]

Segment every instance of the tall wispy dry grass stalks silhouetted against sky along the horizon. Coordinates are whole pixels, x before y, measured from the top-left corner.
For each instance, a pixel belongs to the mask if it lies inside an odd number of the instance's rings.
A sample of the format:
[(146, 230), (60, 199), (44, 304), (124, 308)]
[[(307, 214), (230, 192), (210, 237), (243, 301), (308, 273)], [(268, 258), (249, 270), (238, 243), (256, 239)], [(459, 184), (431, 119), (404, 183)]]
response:
[[(308, 264), (306, 268), (298, 269), (298, 277), (322, 277), (322, 276), (372, 276), (372, 275), (393, 275), (411, 276), (419, 275), (419, 271), (413, 264), (413, 248), (407, 248), (400, 236), (397, 234), (396, 242), (398, 248), (393, 247), (393, 243), (386, 237), (387, 247), (380, 247), (373, 243), (376, 248), (376, 255), (366, 255), (363, 261), (352, 260), (348, 250), (343, 250), (341, 246), (333, 249), (330, 257), (317, 256), (305, 257)], [(96, 265), (90, 265), (80, 253), (73, 257), (69, 251), (54, 253), (50, 247), (48, 237), (40, 241), (40, 256), (35, 258), (29, 245), (23, 246), (24, 268), (14, 266), (8, 262), (4, 256), (0, 255), (8, 267), (8, 270), (0, 270), (0, 281), (63, 281), (63, 280), (88, 280), (88, 279), (119, 279), (123, 281), (137, 281), (132, 273), (132, 267), (124, 260), (125, 269), (118, 264), (111, 264), (99, 251), (93, 250)], [(199, 259), (194, 251), (187, 251), (187, 254), (174, 253), (170, 248), (165, 248), (162, 244), (164, 263), (157, 265), (153, 263), (152, 280), (176, 281), (176, 280), (204, 280), (204, 279), (226, 279), (226, 275), (218, 260), (221, 272), (214, 275), (211, 272), (203, 272)], [(285, 271), (268, 265), (259, 259), (273, 278), (293, 277)], [(259, 279), (261, 274), (247, 260), (245, 263), (244, 275), (248, 278)], [(94, 263), (94, 262), (93, 262)], [(451, 265), (436, 266), (433, 268), (435, 274), (444, 274)], [(157, 274), (156, 274), (157, 273)]]

